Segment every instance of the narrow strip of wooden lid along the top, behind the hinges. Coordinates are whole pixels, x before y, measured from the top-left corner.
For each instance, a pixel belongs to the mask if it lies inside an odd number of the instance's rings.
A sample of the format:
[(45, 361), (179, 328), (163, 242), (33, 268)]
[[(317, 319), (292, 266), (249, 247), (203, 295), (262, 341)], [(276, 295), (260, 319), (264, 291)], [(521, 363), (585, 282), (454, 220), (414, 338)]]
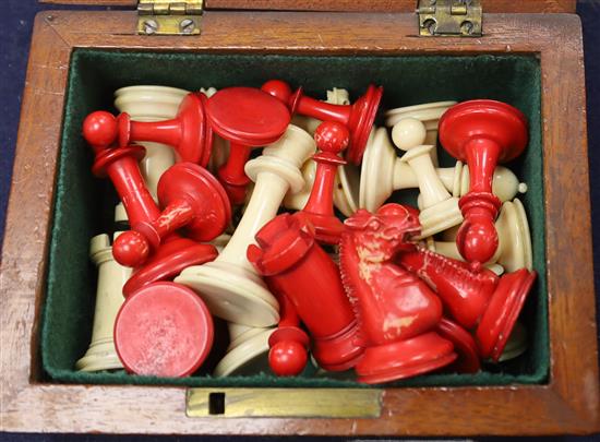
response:
[[(39, 0), (53, 4), (135, 7), (137, 0)], [(576, 0), (481, 0), (492, 13), (575, 13)], [(417, 0), (204, 0), (204, 10), (415, 12)]]

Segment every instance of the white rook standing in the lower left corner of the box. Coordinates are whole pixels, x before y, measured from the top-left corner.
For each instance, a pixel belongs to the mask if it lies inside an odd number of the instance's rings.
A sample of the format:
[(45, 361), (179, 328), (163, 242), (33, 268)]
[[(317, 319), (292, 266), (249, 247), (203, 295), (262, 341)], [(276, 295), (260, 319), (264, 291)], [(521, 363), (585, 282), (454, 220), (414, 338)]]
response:
[[(120, 234), (116, 232), (113, 239)], [(123, 366), (115, 349), (112, 328), (124, 300), (123, 285), (131, 276), (132, 270), (115, 261), (108, 235), (103, 234), (92, 238), (89, 258), (98, 267), (96, 309), (89, 348), (85, 356), (77, 360), (75, 368), (79, 371), (122, 369)]]

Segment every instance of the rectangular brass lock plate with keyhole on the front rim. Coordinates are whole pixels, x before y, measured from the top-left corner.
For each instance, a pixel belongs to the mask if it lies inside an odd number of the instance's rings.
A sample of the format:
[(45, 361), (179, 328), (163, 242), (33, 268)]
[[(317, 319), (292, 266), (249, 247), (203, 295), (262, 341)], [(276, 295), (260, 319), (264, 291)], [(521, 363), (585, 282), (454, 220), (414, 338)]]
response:
[(190, 389), (188, 417), (377, 418), (376, 389)]

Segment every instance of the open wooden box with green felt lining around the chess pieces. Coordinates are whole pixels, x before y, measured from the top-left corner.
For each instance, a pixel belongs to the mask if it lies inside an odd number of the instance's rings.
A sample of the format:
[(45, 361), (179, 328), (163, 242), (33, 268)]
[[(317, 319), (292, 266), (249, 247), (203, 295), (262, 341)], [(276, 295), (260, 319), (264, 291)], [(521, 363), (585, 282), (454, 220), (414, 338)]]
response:
[[(134, 5), (135, 1), (92, 3)], [(415, 7), (411, 0), (206, 0), (200, 36), (136, 35), (136, 13), (127, 10), (48, 11), (37, 16), (0, 273), (1, 430), (279, 435), (600, 431), (584, 65), (575, 2), (483, 1), (484, 35), (479, 38), (420, 37)], [(253, 61), (244, 64), (248, 58)], [(311, 75), (295, 68), (304, 63), (313, 75), (331, 71), (332, 82), (348, 80), (358, 88), (361, 81), (371, 80), (361, 75), (375, 75), (387, 65), (385, 80), (392, 84), (387, 87), (392, 94), (396, 79), (389, 75), (397, 72), (398, 91), (404, 91), (397, 97), (410, 97), (407, 91), (415, 88), (423, 101), (437, 98), (435, 93), (428, 96), (428, 91), (441, 91), (440, 84), (448, 79), (456, 84), (457, 79), (464, 80), (458, 94), (463, 99), (469, 94), (473, 98), (516, 97), (521, 91), (533, 94), (529, 117), (538, 126), (532, 131), (539, 148), (529, 159), (533, 166), (524, 168), (529, 167), (527, 179), (535, 188), (530, 204), (537, 204), (541, 214), (536, 247), (543, 283), (533, 304), (539, 309), (531, 314), (545, 336), (537, 351), (545, 351), (547, 358), (541, 369), (533, 370), (535, 379), (523, 381), (517, 375), (496, 382), (491, 377), (445, 383), (446, 378), (437, 378), (429, 383), (360, 389), (344, 382), (266, 381), (252, 386), (214, 379), (196, 384), (143, 379), (123, 384), (110, 377), (61, 375), (60, 367), (49, 375), (49, 349), (44, 347), (41, 328), (47, 330), (51, 321), (44, 315), (50, 314), (45, 310), (47, 295), (53, 290), (48, 279), (56, 272), (52, 263), (61, 244), (56, 230), (61, 226), (59, 218), (74, 216), (86, 207), (85, 199), (94, 196), (80, 192), (80, 181), (64, 191), (65, 177), (72, 172), (69, 167), (91, 176), (91, 163), (85, 163), (91, 157), (77, 156), (73, 128), (94, 110), (89, 106), (106, 103), (109, 98), (103, 94), (123, 85), (120, 81), (165, 81), (166, 60), (175, 63), (175, 71), (195, 67), (197, 75), (215, 69), (207, 75), (214, 81), (230, 62), (261, 74), (274, 73), (269, 69), (278, 67), (279, 76), (299, 80), (304, 75), (310, 83)], [(345, 65), (355, 68), (339, 73)], [(455, 71), (457, 67), (464, 70)], [(281, 72), (284, 68), (288, 72)], [(85, 76), (77, 69), (95, 73)], [(427, 74), (418, 75), (413, 69)], [(261, 74), (249, 73), (248, 81), (264, 80)], [(506, 85), (494, 84), (494, 74), (506, 79)], [(104, 83), (94, 92), (97, 79)], [(327, 84), (327, 79), (323, 82)], [(73, 97), (85, 95), (86, 88), (87, 101), (81, 105)], [(69, 199), (74, 201), (73, 212)], [(85, 260), (84, 252), (73, 251), (72, 256), (81, 255)], [(73, 272), (77, 268), (74, 263)], [(65, 312), (65, 321), (85, 321), (77, 314)], [(60, 351), (72, 350), (68, 343), (64, 348)], [(191, 396), (190, 385), (200, 387)], [(187, 397), (202, 403), (209, 402), (212, 394), (225, 394), (226, 408), (237, 414), (187, 415)], [(252, 409), (252, 404), (259, 404), (259, 409)]]

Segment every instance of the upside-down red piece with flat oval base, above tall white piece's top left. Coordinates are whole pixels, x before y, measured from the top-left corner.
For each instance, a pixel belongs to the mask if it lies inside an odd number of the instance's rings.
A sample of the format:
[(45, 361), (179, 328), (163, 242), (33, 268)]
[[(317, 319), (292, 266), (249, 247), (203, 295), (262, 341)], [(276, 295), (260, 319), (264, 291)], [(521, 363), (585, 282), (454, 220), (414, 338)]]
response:
[(291, 117), (279, 100), (252, 87), (220, 89), (206, 101), (206, 111), (213, 130), (230, 142), (229, 158), (218, 170), (219, 180), (231, 204), (241, 204), (250, 183), (244, 165), (252, 147), (276, 142)]

